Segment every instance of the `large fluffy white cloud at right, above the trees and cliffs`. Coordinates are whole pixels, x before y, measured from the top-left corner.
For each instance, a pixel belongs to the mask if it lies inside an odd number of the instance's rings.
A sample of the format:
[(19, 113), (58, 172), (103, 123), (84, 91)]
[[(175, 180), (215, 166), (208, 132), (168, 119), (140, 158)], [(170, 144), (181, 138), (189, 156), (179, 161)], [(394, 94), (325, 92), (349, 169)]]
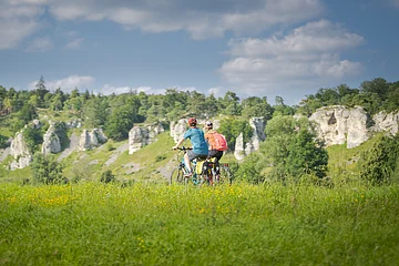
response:
[(298, 90), (305, 83), (323, 84), (361, 72), (361, 63), (341, 59), (340, 52), (362, 42), (362, 37), (339, 24), (310, 22), (285, 37), (232, 40), (232, 59), (218, 72), (228, 84), (246, 93)]

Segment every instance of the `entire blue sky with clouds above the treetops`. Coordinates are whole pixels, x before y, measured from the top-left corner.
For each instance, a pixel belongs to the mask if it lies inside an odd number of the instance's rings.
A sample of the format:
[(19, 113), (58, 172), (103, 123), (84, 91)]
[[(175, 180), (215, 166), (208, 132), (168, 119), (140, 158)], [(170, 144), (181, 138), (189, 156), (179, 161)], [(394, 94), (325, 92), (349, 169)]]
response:
[(298, 104), (399, 80), (399, 0), (0, 0), (0, 85)]

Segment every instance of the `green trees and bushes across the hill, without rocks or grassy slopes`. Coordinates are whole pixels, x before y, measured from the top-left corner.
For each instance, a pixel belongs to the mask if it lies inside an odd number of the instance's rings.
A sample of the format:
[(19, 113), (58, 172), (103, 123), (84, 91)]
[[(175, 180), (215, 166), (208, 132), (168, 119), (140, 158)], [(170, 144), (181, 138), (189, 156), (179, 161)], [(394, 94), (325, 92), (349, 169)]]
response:
[[(316, 139), (314, 125), (307, 119), (294, 119), (293, 114), (309, 116), (318, 108), (336, 104), (361, 105), (370, 114), (395, 111), (399, 106), (399, 81), (387, 82), (377, 78), (362, 82), (359, 89), (350, 89), (345, 84), (319, 89), (316, 94), (306, 95), (299, 105), (289, 106), (280, 96), (276, 96), (272, 105), (266, 96), (241, 100), (232, 91), (222, 98), (174, 88), (167, 89), (165, 94), (131, 91), (120, 95), (102, 95), (78, 89), (65, 93), (61, 88), (51, 92), (41, 76), (31, 91), (17, 91), (13, 88), (7, 90), (0, 85), (0, 127), (9, 126), (11, 133), (14, 133), (37, 119), (38, 112), (44, 109), (54, 114), (79, 117), (85, 127), (102, 127), (108, 137), (121, 141), (127, 139), (129, 131), (135, 123), (161, 121), (168, 124), (187, 116), (212, 119), (222, 114), (225, 117), (221, 121), (219, 132), (225, 134), (229, 149), (233, 150), (235, 137), (241, 132), (244, 134), (244, 143), (252, 137), (248, 119), (262, 116), (267, 122), (267, 139), (260, 144), (258, 152), (247, 156), (239, 165), (237, 176), (252, 183), (273, 178), (300, 181), (304, 176), (318, 180), (326, 176), (328, 153), (324, 143)], [(28, 126), (24, 130), (23, 135), (32, 153), (41, 144), (47, 127), (44, 125), (35, 130)], [(0, 134), (0, 147), (6, 145), (6, 140)], [(398, 143), (398, 137), (385, 136), (376, 144), (372, 154), (364, 154), (361, 177), (375, 183), (391, 180), (399, 158)], [(35, 157), (32, 167), (38, 171), (49, 168), (43, 166), (45, 163), (53, 165), (51, 160), (40, 155)], [(57, 175), (52, 172), (47, 175), (60, 176), (61, 181), (62, 171), (52, 168), (57, 170)], [(44, 175), (41, 173), (40, 176)]]

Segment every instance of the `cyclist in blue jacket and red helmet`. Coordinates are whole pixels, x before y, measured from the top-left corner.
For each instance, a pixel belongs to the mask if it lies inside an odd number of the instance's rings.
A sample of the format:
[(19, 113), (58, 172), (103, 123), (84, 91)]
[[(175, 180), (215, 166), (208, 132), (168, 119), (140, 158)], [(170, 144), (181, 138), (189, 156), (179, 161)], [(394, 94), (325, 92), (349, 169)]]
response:
[(191, 161), (197, 157), (207, 157), (208, 146), (204, 137), (204, 132), (197, 126), (197, 120), (195, 117), (188, 119), (190, 129), (184, 133), (183, 137), (172, 149), (176, 150), (185, 140), (190, 139), (193, 150), (190, 150), (184, 154), (184, 163), (188, 170), (186, 176), (193, 175), (191, 167)]

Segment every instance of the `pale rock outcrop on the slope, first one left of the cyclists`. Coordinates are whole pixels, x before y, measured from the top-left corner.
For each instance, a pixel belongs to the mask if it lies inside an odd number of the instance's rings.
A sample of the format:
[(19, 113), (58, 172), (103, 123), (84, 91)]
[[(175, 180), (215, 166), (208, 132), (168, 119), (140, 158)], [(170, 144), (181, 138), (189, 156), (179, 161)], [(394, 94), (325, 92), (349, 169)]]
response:
[(129, 154), (133, 154), (145, 145), (156, 141), (156, 136), (164, 132), (161, 124), (145, 126), (135, 125), (129, 132)]

